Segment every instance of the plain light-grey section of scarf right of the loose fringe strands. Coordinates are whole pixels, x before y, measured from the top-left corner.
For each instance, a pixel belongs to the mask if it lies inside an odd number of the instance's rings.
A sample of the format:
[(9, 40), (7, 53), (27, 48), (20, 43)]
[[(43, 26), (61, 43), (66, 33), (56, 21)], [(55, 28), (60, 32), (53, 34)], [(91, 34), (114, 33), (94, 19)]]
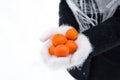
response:
[(118, 1), (119, 0), (103, 0), (100, 2), (100, 0), (96, 0), (100, 13), (103, 14), (102, 22), (114, 14), (118, 6)]

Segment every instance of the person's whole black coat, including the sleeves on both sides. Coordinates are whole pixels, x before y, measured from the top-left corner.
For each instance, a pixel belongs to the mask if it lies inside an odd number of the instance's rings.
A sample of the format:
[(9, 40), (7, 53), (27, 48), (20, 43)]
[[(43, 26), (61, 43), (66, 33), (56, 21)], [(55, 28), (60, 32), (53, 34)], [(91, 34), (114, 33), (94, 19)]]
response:
[[(78, 23), (66, 4), (60, 3), (60, 22), (68, 24), (79, 31)], [(68, 69), (69, 73), (77, 80), (120, 80), (120, 7), (115, 14), (83, 32), (93, 46), (82, 67)]]

